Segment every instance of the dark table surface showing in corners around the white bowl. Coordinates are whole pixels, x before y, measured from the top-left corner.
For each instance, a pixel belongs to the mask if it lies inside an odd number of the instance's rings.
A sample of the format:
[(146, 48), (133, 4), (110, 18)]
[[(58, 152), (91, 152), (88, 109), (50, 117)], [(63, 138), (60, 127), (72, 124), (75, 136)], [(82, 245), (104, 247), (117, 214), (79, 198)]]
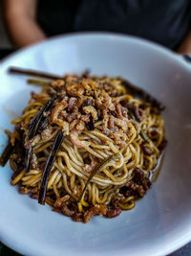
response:
[[(12, 49), (0, 49), (0, 59), (7, 57), (15, 50)], [(0, 256), (19, 256), (20, 254), (11, 250), (5, 244), (0, 242)], [(191, 256), (191, 243), (184, 245), (179, 250), (170, 254), (170, 256)]]

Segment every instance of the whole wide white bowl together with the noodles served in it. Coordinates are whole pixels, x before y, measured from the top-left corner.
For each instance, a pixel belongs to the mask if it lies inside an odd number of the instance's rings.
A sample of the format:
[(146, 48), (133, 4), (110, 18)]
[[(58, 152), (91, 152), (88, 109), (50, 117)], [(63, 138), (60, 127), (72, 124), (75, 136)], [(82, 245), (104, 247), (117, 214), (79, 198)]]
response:
[(115, 34), (4, 59), (1, 241), (25, 255), (165, 255), (191, 241), (190, 79), (181, 56)]

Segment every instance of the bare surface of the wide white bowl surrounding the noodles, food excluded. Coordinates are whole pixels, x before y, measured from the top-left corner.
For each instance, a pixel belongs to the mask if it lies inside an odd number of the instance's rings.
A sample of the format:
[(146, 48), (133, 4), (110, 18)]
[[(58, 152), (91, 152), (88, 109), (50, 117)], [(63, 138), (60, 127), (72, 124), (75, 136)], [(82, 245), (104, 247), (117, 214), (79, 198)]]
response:
[[(18, 194), (9, 165), (0, 168), (0, 237), (25, 255), (164, 255), (191, 241), (191, 65), (146, 40), (113, 34), (55, 37), (0, 64), (0, 150), (3, 128), (27, 104), (34, 87), (9, 75), (15, 65), (55, 74), (122, 76), (159, 98), (168, 147), (157, 183), (136, 208), (116, 219), (71, 221)], [(11, 128), (12, 129), (12, 128)]]

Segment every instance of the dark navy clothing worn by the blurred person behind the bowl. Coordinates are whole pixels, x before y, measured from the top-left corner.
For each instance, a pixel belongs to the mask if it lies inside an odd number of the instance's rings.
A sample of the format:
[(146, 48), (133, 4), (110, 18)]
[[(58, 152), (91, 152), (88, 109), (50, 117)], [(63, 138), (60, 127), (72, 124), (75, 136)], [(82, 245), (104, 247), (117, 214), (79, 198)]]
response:
[(191, 24), (191, 0), (38, 1), (38, 21), (48, 36), (117, 32), (176, 49)]

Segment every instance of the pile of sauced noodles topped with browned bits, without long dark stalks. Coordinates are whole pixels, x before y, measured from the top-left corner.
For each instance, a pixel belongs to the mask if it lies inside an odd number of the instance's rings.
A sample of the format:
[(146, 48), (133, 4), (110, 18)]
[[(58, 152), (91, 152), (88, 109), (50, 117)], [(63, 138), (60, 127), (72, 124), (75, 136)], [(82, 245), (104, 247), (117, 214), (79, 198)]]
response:
[[(50, 99), (53, 105), (30, 138), (32, 120)], [(122, 80), (107, 77), (65, 76), (45, 83), (12, 124), (11, 145), (19, 150), (11, 154), (11, 184), (38, 199), (43, 170), (62, 131), (45, 201), (74, 221), (97, 214), (113, 218), (132, 209), (151, 186), (149, 173), (165, 141), (159, 109), (130, 95)], [(32, 151), (28, 171), (27, 151)]]

